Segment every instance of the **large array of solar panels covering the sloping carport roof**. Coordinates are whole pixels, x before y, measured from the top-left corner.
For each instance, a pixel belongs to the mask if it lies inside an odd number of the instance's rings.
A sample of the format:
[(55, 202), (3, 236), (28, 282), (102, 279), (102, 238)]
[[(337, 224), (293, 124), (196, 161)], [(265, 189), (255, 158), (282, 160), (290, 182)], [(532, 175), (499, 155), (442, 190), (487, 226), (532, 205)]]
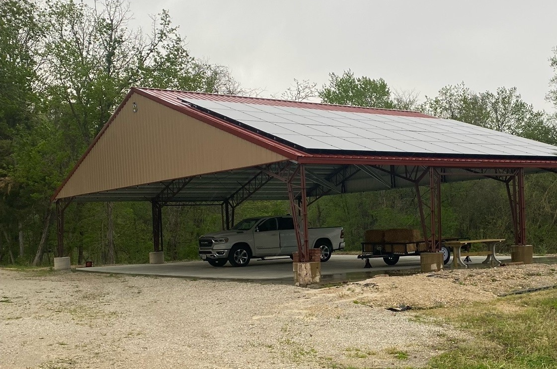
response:
[(305, 149), (557, 156), (555, 146), (451, 119), (201, 99), (187, 102)]

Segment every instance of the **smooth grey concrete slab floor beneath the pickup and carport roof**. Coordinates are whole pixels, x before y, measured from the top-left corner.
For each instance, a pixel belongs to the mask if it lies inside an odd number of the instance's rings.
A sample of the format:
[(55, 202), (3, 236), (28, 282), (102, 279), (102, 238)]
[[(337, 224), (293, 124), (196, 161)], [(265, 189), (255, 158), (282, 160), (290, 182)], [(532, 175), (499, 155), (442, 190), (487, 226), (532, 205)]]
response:
[[(510, 262), (510, 256), (498, 255), (501, 262)], [(470, 268), (485, 268), (481, 262), (485, 257), (471, 257)], [(535, 260), (536, 262), (537, 260)], [(321, 264), (321, 283), (361, 281), (377, 274), (405, 275), (420, 272), (419, 256), (401, 257), (397, 265), (389, 266), (383, 259), (370, 259), (372, 269), (364, 269), (364, 260), (356, 255), (333, 255)], [(450, 263), (450, 262), (449, 262)], [(450, 269), (450, 264), (445, 265)], [(129, 264), (107, 267), (77, 268), (78, 272), (157, 275), (160, 277), (179, 277), (189, 279), (218, 279), (222, 281), (241, 281), (256, 283), (294, 283), (292, 260), (290, 258), (268, 258), (251, 260), (247, 267), (234, 268), (229, 264), (224, 267), (212, 267), (207, 262), (175, 262), (165, 264)]]

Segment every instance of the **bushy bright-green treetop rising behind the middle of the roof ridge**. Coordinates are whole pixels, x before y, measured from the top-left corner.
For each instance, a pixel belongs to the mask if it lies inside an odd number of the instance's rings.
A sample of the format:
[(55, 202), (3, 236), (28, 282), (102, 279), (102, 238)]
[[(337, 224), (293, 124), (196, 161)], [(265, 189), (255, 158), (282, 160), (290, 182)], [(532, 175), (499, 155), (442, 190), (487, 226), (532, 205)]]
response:
[(339, 76), (329, 74), (329, 84), (319, 91), (319, 97), (328, 104), (382, 107), (393, 109), (393, 100), (383, 78), (354, 77), (350, 70)]

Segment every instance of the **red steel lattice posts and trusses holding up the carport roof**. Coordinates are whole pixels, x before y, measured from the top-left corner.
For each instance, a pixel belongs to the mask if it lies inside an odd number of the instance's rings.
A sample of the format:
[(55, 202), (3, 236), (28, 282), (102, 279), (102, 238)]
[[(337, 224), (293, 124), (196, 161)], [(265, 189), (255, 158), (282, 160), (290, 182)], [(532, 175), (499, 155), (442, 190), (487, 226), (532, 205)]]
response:
[[(404, 165), (404, 174), (394, 173), (393, 166), (390, 169), (384, 169), (377, 164), (367, 165), (370, 168), (384, 171), (391, 175), (391, 181), (394, 184), (394, 178), (398, 177), (414, 183), (418, 200), (418, 209), (422, 224), (422, 232), (428, 248), (431, 251), (437, 251), (441, 248), (442, 240), (442, 221), (441, 221), (441, 183), (443, 181), (443, 168), (434, 166), (417, 166)], [(259, 168), (260, 173), (254, 176), (248, 183), (243, 185), (238, 191), (233, 193), (229, 198), (221, 204), (223, 215), (223, 229), (229, 229), (234, 222), (234, 209), (243, 201), (250, 198), (253, 193), (262, 188), (272, 178), (283, 181), (288, 189), (290, 209), (292, 218), (295, 223), (296, 241), (298, 251), (300, 253), (300, 261), (309, 261), (309, 237), (307, 227), (307, 206), (309, 206), (308, 196), (315, 197), (311, 202), (329, 193), (328, 190), (320, 190), (313, 188), (307, 189), (306, 186), (306, 169), (304, 164), (295, 164), (292, 161), (283, 163), (270, 164)], [(495, 169), (495, 168), (494, 168)], [(499, 168), (496, 173), (487, 173), (483, 169), (466, 169), (468, 173), (451, 173), (454, 175), (481, 175), (485, 178), (491, 178), (504, 182), (506, 185), (507, 195), (511, 209), (511, 217), (513, 230), (515, 235), (515, 243), (519, 245), (526, 244), (526, 206), (525, 206), (525, 186), (524, 186), (524, 168)], [(349, 170), (343, 167), (342, 171), (338, 171), (331, 178), (328, 178), (333, 185), (344, 183), (346, 179), (353, 176), (359, 169)], [(424, 198), (421, 192), (420, 183), (426, 175), (429, 174), (428, 196)], [(345, 177), (345, 178), (343, 178)], [(165, 187), (157, 198), (152, 200), (153, 211), (153, 246), (155, 251), (163, 250), (163, 232), (162, 232), (162, 208), (170, 205), (175, 195), (183, 190), (191, 179), (175, 180), (173, 183)], [(56, 225), (57, 225), (57, 254), (63, 256), (64, 250), (64, 212), (74, 198), (56, 200)], [(177, 205), (216, 205), (211, 204), (190, 204), (180, 203)], [(429, 209), (429, 222), (426, 219), (424, 208)], [(226, 224), (225, 224), (226, 220)], [(428, 224), (429, 223), (429, 227)]]

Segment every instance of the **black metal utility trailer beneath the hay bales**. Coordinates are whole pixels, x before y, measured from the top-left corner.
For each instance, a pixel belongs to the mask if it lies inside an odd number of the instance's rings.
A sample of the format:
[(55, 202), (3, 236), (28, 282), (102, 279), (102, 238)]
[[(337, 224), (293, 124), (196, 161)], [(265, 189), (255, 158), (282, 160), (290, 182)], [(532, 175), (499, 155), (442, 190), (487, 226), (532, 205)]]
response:
[[(451, 249), (443, 245), (443, 242), (464, 239), (468, 238), (443, 238), (441, 240), (441, 252), (443, 252), (443, 262), (445, 264), (447, 264), (451, 258)], [(369, 259), (372, 258), (383, 258), (385, 264), (395, 265), (398, 263), (401, 256), (417, 256), (423, 252), (427, 252), (427, 249), (420, 250), (420, 248), (423, 248), (422, 246), (424, 244), (426, 244), (425, 240), (405, 243), (362, 242), (361, 254), (358, 255), (358, 259), (365, 259), (364, 268), (372, 267), (372, 264), (369, 263)]]

